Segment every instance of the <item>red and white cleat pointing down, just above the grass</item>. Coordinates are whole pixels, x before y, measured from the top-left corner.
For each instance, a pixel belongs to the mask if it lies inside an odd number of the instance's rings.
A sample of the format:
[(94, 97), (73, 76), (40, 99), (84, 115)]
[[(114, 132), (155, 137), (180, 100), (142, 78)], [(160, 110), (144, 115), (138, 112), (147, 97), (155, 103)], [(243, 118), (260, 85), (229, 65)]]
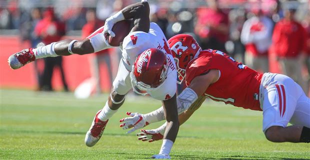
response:
[(104, 128), (106, 126), (106, 123), (108, 121), (108, 119), (106, 121), (102, 121), (100, 119), (98, 119), (98, 114), (101, 112), (101, 110), (99, 110), (96, 114), (96, 116), (94, 117), (91, 126), (89, 128), (89, 130), (86, 132), (85, 135), (85, 144), (87, 146), (93, 146), (94, 144), (96, 144), (98, 142), (98, 140), (100, 139)]

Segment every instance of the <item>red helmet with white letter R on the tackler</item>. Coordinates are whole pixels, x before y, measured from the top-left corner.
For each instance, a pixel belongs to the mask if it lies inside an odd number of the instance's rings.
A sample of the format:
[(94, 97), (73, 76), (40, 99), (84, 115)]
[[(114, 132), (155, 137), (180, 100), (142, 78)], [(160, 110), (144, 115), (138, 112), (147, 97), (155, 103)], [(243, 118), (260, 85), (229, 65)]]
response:
[(189, 34), (177, 34), (168, 40), (178, 73), (177, 82), (180, 84), (185, 77), (188, 62), (201, 51), (197, 41)]

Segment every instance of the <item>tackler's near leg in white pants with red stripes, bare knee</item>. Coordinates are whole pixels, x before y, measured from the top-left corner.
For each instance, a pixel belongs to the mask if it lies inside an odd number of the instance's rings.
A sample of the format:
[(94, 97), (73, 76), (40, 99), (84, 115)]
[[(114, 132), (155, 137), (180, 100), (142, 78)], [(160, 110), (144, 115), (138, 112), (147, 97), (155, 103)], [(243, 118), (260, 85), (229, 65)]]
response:
[(295, 82), (285, 75), (277, 74), (273, 82), (276, 84), (268, 86), (263, 93), (265, 136), (272, 142), (300, 142), (303, 126), (286, 125), (295, 111), (301, 93), (296, 88)]

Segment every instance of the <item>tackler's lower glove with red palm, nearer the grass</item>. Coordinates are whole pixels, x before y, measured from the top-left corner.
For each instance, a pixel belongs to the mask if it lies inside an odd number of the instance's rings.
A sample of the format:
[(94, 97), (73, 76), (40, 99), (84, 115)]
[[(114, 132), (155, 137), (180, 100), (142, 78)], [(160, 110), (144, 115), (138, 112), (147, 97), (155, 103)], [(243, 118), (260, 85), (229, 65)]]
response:
[(140, 130), (141, 132), (137, 133), (136, 136), (138, 137), (138, 140), (142, 140), (142, 141), (148, 141), (148, 142), (152, 142), (155, 140), (160, 140), (163, 138), (163, 134), (166, 128), (166, 123), (164, 123), (163, 125), (159, 126), (156, 129), (148, 129), (148, 130)]

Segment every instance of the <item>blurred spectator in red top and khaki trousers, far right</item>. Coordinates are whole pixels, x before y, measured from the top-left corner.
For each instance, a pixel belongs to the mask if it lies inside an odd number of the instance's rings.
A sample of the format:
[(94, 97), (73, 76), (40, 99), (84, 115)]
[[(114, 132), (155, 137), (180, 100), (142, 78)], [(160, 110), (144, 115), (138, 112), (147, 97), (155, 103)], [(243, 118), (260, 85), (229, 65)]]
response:
[(277, 56), (284, 74), (293, 78), (305, 90), (302, 80), (302, 53), (306, 49), (306, 32), (294, 20), (295, 9), (286, 9), (284, 18), (274, 26), (271, 51)]

